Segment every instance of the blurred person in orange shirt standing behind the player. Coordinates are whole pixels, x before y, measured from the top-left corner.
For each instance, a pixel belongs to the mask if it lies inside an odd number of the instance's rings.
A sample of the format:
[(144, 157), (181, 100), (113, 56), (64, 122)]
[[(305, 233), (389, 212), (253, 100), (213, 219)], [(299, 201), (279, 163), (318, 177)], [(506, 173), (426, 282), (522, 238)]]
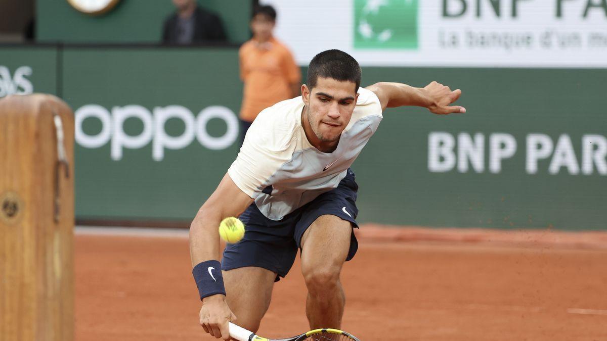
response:
[(241, 144), (259, 112), (300, 95), (301, 70), (293, 55), (273, 36), (276, 10), (258, 6), (253, 10), (253, 38), (240, 47), (240, 78), (245, 89), (240, 108)]

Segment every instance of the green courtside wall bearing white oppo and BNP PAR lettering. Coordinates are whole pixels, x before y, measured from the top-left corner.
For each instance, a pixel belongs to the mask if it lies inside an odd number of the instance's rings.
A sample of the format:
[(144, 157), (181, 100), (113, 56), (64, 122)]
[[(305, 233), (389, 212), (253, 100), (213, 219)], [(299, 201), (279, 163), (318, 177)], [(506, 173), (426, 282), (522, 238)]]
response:
[[(188, 221), (237, 154), (236, 49), (0, 47), (0, 77), (0, 90), (56, 93), (75, 110), (81, 220)], [(607, 228), (605, 79), (605, 69), (364, 68), (363, 84), (458, 87), (468, 111), (384, 112), (353, 165), (359, 221)]]

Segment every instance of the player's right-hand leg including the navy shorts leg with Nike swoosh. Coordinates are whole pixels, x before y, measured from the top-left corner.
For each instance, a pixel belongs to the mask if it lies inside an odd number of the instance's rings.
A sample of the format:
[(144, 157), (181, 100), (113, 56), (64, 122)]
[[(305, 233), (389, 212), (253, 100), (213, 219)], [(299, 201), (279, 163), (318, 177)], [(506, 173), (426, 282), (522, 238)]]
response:
[(305, 206), (294, 239), (302, 254), (302, 272), (308, 286), (306, 312), (311, 328), (341, 327), (345, 295), (339, 282), (344, 262), (356, 254), (358, 185), (354, 172), (337, 188), (319, 195)]

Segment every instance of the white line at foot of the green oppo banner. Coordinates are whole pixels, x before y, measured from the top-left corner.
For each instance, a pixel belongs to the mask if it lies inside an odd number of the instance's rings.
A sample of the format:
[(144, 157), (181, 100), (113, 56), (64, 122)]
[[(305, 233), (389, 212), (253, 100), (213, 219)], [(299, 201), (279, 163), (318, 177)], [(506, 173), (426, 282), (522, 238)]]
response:
[(121, 228), (115, 226), (76, 226), (76, 235), (120, 235), (127, 237), (188, 238), (188, 229)]

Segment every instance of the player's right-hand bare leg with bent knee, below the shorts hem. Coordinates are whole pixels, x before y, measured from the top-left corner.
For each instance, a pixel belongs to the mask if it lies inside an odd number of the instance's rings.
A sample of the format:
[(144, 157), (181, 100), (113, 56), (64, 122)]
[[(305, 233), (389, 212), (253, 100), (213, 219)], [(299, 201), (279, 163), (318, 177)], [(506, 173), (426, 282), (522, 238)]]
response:
[(306, 314), (311, 329), (341, 327), (345, 294), (339, 275), (351, 234), (350, 221), (321, 215), (302, 237), (302, 273), (308, 287)]

